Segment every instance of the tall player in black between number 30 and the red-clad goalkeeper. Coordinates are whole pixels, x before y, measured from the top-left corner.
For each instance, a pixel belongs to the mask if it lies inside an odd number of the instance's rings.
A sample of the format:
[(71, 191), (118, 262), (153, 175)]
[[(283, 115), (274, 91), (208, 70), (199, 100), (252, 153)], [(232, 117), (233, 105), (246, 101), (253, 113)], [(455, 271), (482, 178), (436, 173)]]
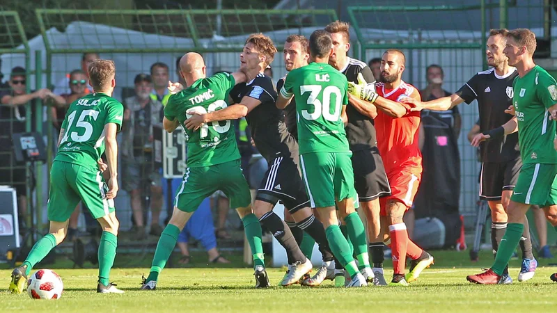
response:
[[(349, 24), (336, 21), (325, 27), (333, 38), (333, 51), (329, 64), (345, 74), (348, 81), (358, 83), (358, 74), (368, 82), (375, 81), (373, 73), (366, 63), (350, 58)], [(366, 213), (368, 222), (369, 250), (375, 278), (373, 284), (386, 285), (383, 276), (383, 238), (379, 218), (379, 197), (391, 194), (383, 160), (377, 149), (377, 137), (373, 119), (377, 111), (370, 111), (370, 106), (361, 99), (348, 98), (350, 105), (346, 108), (348, 125), (346, 136), (352, 151), (352, 167), (354, 168), (354, 187), (360, 207)]]

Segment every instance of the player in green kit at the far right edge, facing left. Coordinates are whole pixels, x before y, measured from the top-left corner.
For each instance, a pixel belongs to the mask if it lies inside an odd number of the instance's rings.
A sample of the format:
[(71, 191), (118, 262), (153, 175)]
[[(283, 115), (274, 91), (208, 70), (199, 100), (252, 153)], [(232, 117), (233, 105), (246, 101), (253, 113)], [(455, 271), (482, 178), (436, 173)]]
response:
[[(544, 208), (553, 223), (551, 206), (557, 204), (557, 82), (542, 67), (535, 65), (533, 54), (535, 34), (528, 29), (515, 29), (507, 35), (503, 53), (510, 66), (517, 68), (518, 77), (513, 83), (512, 111), (515, 118), (505, 125), (478, 134), (473, 145), (491, 138), (501, 138), (518, 128), (522, 168), (510, 203), (508, 225), (497, 250), (495, 262), (489, 270), (466, 277), (477, 284), (497, 284), (507, 266), (512, 252), (517, 248), (526, 211), (531, 205)], [(557, 224), (554, 224), (557, 225)]]

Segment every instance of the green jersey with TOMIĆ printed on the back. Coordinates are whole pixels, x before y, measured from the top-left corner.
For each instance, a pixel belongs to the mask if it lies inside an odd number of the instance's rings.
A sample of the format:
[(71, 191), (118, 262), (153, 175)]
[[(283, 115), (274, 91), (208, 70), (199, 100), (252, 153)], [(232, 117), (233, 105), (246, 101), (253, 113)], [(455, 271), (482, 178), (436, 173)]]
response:
[(209, 122), (196, 131), (186, 129), (187, 111), (214, 112), (228, 106), (228, 93), (234, 87), (234, 77), (228, 73), (198, 79), (188, 88), (172, 95), (164, 107), (168, 120), (178, 118), (187, 138), (187, 166), (213, 166), (240, 159), (234, 127), (230, 120)]

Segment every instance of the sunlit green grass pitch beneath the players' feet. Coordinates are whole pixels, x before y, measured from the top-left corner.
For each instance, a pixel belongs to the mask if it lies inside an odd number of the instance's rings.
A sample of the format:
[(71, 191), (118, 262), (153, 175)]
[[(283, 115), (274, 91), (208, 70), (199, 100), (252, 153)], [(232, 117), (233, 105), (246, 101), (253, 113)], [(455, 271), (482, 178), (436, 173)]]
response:
[[(0, 270), (2, 312), (554, 312), (557, 268), (542, 262), (533, 280), (516, 281), (519, 261), (511, 262), (512, 285), (478, 286), (466, 275), (479, 273), (491, 258), (471, 264), (466, 252), (437, 252), (437, 262), (409, 287), (278, 287), (253, 289), (251, 268), (167, 268), (156, 291), (139, 291), (145, 268), (114, 268), (111, 280), (126, 294), (96, 294), (97, 270), (56, 269), (65, 290), (60, 300), (31, 300), (6, 291), (10, 271)], [(390, 263), (390, 262), (389, 262)], [(5, 267), (4, 267), (5, 268)], [(40, 267), (38, 267), (40, 268)], [(283, 271), (268, 268), (272, 284)], [(392, 271), (386, 268), (386, 275)]]

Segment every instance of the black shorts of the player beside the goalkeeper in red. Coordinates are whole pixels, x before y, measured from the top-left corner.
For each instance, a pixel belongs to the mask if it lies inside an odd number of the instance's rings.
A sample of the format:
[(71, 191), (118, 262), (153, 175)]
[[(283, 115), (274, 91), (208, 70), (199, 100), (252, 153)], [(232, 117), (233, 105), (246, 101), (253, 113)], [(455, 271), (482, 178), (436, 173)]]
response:
[(352, 153), (354, 188), (360, 202), (391, 195), (391, 186), (377, 147)]

